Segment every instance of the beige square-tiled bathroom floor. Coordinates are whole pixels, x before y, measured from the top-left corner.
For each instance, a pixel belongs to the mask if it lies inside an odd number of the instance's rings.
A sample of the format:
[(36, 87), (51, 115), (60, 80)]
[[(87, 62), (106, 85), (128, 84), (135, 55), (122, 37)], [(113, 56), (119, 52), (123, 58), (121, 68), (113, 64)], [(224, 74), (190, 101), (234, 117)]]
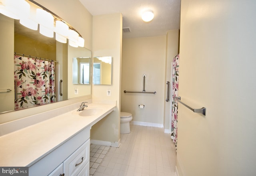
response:
[(164, 129), (131, 124), (119, 148), (91, 144), (90, 176), (176, 176), (176, 151)]

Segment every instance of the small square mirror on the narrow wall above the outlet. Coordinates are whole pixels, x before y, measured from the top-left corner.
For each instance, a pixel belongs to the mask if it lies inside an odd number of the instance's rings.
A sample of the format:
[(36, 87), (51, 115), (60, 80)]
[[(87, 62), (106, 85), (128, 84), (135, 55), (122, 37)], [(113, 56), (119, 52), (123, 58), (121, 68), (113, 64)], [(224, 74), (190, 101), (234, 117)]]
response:
[(94, 57), (92, 83), (111, 85), (112, 81), (112, 57)]

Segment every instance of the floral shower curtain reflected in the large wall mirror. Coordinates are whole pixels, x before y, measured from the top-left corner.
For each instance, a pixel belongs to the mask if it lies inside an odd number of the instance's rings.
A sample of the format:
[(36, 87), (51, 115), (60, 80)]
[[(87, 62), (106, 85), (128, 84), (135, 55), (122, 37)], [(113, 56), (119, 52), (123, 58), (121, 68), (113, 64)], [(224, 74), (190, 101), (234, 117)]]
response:
[(55, 102), (54, 62), (14, 55), (15, 109)]

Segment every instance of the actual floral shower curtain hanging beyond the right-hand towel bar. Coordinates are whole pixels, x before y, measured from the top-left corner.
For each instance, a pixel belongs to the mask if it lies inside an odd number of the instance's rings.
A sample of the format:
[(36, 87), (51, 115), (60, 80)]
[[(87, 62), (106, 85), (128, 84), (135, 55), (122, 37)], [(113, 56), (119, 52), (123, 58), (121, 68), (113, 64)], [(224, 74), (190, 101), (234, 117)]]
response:
[(178, 123), (178, 100), (174, 97), (178, 97), (179, 89), (179, 54), (173, 58), (172, 65), (172, 139), (177, 146), (177, 123)]

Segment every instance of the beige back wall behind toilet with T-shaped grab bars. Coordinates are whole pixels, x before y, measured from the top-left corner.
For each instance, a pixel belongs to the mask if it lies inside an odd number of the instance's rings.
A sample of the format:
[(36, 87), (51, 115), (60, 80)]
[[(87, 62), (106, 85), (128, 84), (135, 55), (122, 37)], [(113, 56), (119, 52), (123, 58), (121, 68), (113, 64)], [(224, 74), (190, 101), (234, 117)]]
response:
[[(166, 36), (125, 38), (122, 49), (121, 111), (132, 113), (133, 121), (163, 125)], [(124, 93), (142, 91), (144, 74), (145, 90), (156, 95)]]

